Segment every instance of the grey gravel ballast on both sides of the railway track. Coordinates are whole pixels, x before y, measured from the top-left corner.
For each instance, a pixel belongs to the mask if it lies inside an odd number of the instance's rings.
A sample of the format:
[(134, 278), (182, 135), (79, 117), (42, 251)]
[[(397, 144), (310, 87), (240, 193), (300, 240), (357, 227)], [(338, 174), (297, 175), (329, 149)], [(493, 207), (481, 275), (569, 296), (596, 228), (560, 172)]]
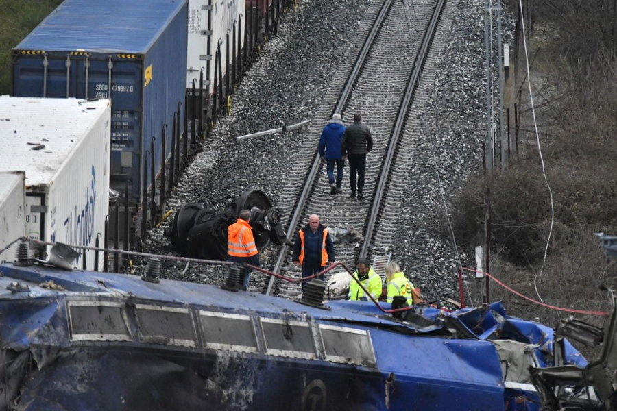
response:
[[(243, 141), (236, 136), (304, 119), (325, 123), (327, 119), (314, 119), (313, 114), (330, 90), (330, 79), (370, 3), (299, 1), (297, 10), (287, 12), (278, 36), (265, 45), (237, 88), (232, 115), (219, 117), (204, 142), (204, 152), (182, 176), (169, 201), (173, 210), (195, 202), (222, 211), (230, 199), (250, 187), (265, 191), (276, 204), (284, 194), (281, 190), (302, 142), (302, 129)], [(422, 148), (405, 189), (407, 201), (400, 210), (392, 250), (393, 259), (423, 292), (453, 299), (458, 299), (457, 253), (450, 240), (439, 234), (438, 221), (445, 220), (445, 214), (433, 152), (447, 203), (465, 175), (482, 166), (486, 129), (483, 4), (459, 2), (440, 75), (426, 103)], [(504, 25), (506, 32), (510, 23)], [(169, 222), (171, 218), (149, 232), (144, 251), (177, 255), (162, 236)], [(264, 268), (271, 268), (276, 251), (278, 247), (271, 246), (261, 253)], [(470, 250), (459, 252), (463, 265), (474, 263)], [(194, 264), (184, 274), (183, 269), (184, 264), (165, 262), (162, 276), (207, 284), (221, 284), (223, 279), (221, 270)]]

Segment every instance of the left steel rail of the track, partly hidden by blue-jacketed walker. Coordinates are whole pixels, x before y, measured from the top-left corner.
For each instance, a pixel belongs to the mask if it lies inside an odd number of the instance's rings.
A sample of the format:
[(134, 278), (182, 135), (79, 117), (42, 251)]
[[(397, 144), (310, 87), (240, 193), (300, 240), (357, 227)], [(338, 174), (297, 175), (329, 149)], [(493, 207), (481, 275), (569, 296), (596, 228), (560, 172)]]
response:
[[(353, 90), (353, 86), (356, 83), (356, 79), (358, 78), (358, 76), (360, 75), (362, 71), (367, 55), (370, 49), (372, 49), (374, 40), (377, 38), (377, 34), (379, 33), (379, 30), (381, 29), (383, 25), (383, 21), (385, 21), (385, 17), (387, 16), (387, 13), (390, 10), (392, 4), (394, 4), (394, 0), (385, 0), (383, 2), (383, 5), (381, 6), (381, 9), (379, 11), (379, 14), (375, 18), (375, 22), (373, 23), (371, 31), (367, 35), (366, 40), (364, 41), (364, 44), (362, 46), (362, 49), (360, 53), (358, 54), (358, 57), (356, 58), (356, 62), (354, 63), (354, 66), (352, 70), (350, 71), (350, 75), (347, 79), (346, 85), (341, 91), (341, 95), (339, 97), (339, 100), (337, 101), (337, 105), (335, 105), (335, 108), (332, 110), (332, 114), (334, 114), (335, 112), (340, 112), (343, 109), (345, 103), (348, 101), (351, 95), (351, 92)], [(298, 222), (300, 221), (300, 218), (302, 217), (302, 212), (304, 211), (304, 206), (306, 205), (306, 199), (309, 198), (309, 195), (311, 191), (313, 190), (313, 187), (315, 186), (315, 177), (317, 176), (317, 171), (319, 170), (320, 162), (321, 161), (319, 159), (317, 150), (315, 150), (311, 170), (306, 175), (306, 179), (304, 179), (304, 190), (302, 190), (302, 194), (300, 195), (300, 198), (298, 199), (298, 202), (295, 205), (295, 212), (293, 213), (293, 216), (291, 218), (291, 221), (287, 229), (287, 238), (289, 240), (291, 240), (293, 234), (295, 233), (295, 227), (298, 225)], [(276, 260), (276, 264), (274, 264), (274, 268), (272, 269), (272, 272), (277, 273), (277, 274), (280, 273), (280, 270), (282, 269), (283, 264), (285, 264), (285, 257), (287, 256), (288, 248), (289, 246), (282, 245), (280, 252), (278, 254), (278, 259)], [(272, 286), (274, 286), (274, 277), (270, 277), (268, 280), (268, 285), (265, 291), (266, 295), (271, 294)]]

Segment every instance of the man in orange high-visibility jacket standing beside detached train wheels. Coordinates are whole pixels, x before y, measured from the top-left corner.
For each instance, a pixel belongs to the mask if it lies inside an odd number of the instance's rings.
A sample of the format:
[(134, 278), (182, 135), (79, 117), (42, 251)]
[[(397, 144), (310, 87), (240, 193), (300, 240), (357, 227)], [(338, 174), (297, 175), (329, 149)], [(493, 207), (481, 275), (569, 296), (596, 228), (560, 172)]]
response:
[[(249, 224), (251, 212), (242, 210), (238, 214), (238, 220), (227, 227), (227, 253), (228, 261), (260, 266), (259, 253), (253, 237), (253, 229)], [(246, 291), (251, 269), (243, 267), (240, 272), (241, 290)]]

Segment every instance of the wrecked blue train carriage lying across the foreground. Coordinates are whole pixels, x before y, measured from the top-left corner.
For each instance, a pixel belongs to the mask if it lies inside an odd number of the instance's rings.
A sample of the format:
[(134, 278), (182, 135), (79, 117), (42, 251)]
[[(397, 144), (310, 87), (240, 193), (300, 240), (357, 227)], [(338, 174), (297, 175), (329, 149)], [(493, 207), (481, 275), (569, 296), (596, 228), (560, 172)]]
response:
[(553, 331), (499, 303), (402, 322), (363, 302), (0, 273), (0, 410), (540, 410), (529, 366), (552, 364)]

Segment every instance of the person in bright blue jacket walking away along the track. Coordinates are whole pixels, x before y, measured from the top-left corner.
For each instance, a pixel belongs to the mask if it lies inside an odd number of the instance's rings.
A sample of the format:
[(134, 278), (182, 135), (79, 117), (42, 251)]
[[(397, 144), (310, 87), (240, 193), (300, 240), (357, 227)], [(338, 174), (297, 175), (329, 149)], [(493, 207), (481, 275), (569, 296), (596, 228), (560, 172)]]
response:
[[(343, 132), (345, 125), (341, 120), (341, 114), (332, 114), (332, 120), (328, 121), (322, 131), (322, 138), (319, 138), (319, 156), (326, 158), (326, 170), (328, 171), (328, 182), (330, 183), (330, 194), (335, 195), (342, 192), (343, 167), (345, 158), (341, 151), (343, 142)], [(334, 178), (334, 166), (337, 164), (337, 181)]]

